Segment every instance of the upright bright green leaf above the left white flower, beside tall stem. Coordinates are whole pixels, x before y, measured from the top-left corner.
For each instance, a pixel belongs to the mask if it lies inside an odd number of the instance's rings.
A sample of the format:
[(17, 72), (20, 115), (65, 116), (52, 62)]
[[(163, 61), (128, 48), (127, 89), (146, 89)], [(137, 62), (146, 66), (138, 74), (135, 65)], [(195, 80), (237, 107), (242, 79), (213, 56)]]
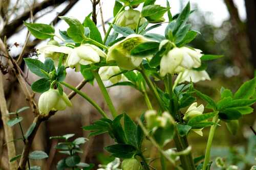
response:
[(91, 39), (93, 39), (93, 40), (95, 40), (95, 41), (97, 41), (101, 44), (103, 43), (100, 32), (99, 32), (97, 26), (92, 21), (92, 19), (90, 19), (88, 16), (83, 21), (83, 27), (89, 27), (89, 29), (90, 29), (90, 38)]

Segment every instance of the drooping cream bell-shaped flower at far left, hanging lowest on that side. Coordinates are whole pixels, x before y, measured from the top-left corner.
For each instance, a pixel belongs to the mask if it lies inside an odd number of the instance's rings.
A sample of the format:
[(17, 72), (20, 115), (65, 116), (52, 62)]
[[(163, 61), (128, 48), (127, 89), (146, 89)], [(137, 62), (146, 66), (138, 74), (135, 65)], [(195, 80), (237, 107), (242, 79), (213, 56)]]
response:
[(57, 89), (42, 93), (38, 100), (40, 114), (48, 115), (51, 110), (65, 110), (67, 106), (72, 106), (67, 94), (63, 92), (61, 95)]

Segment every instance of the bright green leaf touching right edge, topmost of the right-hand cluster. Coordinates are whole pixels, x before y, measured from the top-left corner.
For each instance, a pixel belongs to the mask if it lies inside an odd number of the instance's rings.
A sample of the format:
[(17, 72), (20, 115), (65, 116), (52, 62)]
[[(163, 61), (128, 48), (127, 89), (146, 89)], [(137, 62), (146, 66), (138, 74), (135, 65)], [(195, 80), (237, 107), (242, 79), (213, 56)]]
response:
[(256, 77), (245, 82), (236, 93), (234, 99), (249, 99), (254, 94), (256, 88)]

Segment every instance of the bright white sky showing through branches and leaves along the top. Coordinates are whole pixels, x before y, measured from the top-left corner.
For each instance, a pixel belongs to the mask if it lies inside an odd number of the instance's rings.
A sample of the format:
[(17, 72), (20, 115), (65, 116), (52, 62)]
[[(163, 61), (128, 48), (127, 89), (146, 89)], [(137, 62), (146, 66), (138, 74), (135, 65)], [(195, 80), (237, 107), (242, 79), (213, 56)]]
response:
[[(242, 20), (246, 19), (246, 10), (245, 10), (245, 4), (244, 0), (233, 0), (236, 6), (239, 10), (239, 15)], [(180, 12), (181, 8), (186, 5), (188, 1), (187, 0), (169, 0), (170, 3), (170, 11), (173, 15)], [(102, 10), (103, 10), (103, 18), (104, 20), (112, 18), (113, 17), (113, 7), (114, 7), (114, 0), (101, 0), (102, 3)], [(198, 10), (202, 11), (204, 15), (210, 14), (209, 18), (206, 20), (208, 23), (213, 24), (217, 27), (221, 26), (222, 22), (227, 20), (229, 18), (229, 13), (227, 11), (227, 8), (224, 4), (224, 0), (190, 0), (191, 3), (191, 9), (197, 8)], [(165, 0), (157, 0), (156, 4), (159, 4), (161, 6), (166, 6)], [(38, 23), (50, 23), (50, 21), (56, 16), (57, 12), (60, 12), (63, 8), (66, 7), (67, 4), (60, 5), (56, 8), (56, 10), (48, 13), (44, 17), (36, 20)], [(138, 10), (141, 9), (141, 6), (138, 7)], [(46, 9), (45, 11), (51, 10)], [(92, 11), (92, 5), (90, 0), (80, 0), (76, 5), (66, 14), (66, 16), (72, 16), (83, 21), (84, 17), (86, 17), (90, 12)], [(37, 15), (41, 15), (40, 13)], [(207, 15), (208, 16), (208, 15)], [(165, 16), (167, 17), (167, 16)], [(191, 16), (193, 17), (193, 15)], [(49, 19), (51, 18), (51, 19)], [(101, 24), (101, 18), (98, 14), (98, 25)], [(56, 26), (55, 30), (56, 33), (58, 33), (58, 30), (67, 30), (69, 26), (65, 21), (60, 21)], [(99, 27), (99, 30), (102, 31), (102, 27)], [(163, 33), (164, 32), (164, 26), (162, 28), (158, 28), (155, 30), (157, 33)], [(19, 34), (15, 34), (11, 38), (9, 38), (8, 42), (10, 44), (13, 44), (14, 42), (17, 42), (19, 44), (23, 44), (25, 41), (27, 29), (23, 29)], [(31, 36), (31, 39), (34, 37)], [(38, 46), (44, 45), (46, 42), (42, 42), (38, 44)], [(20, 47), (12, 49), (11, 54), (16, 55), (20, 51)]]

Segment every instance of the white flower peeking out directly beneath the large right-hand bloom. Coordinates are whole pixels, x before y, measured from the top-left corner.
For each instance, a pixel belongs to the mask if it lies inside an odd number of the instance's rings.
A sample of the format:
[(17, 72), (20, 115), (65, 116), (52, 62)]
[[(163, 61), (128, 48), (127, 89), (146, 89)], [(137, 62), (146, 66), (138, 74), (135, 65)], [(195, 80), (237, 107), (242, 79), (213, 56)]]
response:
[(185, 69), (183, 72), (180, 72), (175, 80), (175, 84), (190, 82), (190, 79), (192, 82), (197, 83), (199, 81), (210, 80), (210, 77), (205, 70), (197, 71), (193, 69)]

